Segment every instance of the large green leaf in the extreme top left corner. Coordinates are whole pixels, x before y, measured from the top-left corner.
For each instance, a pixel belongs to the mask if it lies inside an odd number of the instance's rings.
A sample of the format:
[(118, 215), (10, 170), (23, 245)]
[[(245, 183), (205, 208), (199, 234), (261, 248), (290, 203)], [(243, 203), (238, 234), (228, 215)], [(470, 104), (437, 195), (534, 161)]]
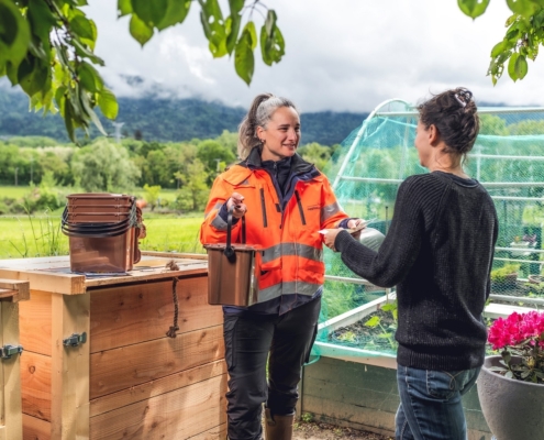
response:
[(19, 66), (29, 52), (30, 37), (29, 23), (19, 8), (11, 0), (0, 0), (0, 64)]

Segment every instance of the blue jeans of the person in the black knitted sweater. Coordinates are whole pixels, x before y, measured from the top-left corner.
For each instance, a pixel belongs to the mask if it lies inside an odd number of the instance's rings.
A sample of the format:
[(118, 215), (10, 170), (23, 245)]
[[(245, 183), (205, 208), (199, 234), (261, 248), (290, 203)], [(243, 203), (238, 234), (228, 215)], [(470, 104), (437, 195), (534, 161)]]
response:
[(474, 385), (479, 371), (445, 372), (397, 365), (397, 440), (466, 440), (460, 396)]

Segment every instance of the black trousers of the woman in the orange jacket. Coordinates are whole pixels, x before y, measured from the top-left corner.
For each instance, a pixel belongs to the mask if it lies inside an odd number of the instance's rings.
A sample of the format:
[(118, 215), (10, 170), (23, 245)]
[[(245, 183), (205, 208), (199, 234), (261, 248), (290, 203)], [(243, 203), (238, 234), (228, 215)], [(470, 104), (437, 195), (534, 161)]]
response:
[(224, 315), (229, 439), (260, 440), (263, 403), (271, 414), (295, 413), (297, 385), (315, 341), (320, 308), (321, 298), (315, 298), (281, 316)]

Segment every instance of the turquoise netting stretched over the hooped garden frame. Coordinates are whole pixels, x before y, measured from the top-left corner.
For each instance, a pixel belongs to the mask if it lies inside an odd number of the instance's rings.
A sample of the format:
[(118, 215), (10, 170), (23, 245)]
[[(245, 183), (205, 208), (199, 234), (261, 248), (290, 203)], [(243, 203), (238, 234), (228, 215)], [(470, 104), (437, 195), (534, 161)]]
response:
[[(499, 216), (491, 301), (539, 308), (544, 305), (544, 108), (480, 107), (478, 112), (480, 132), (465, 169), (487, 188)], [(418, 118), (412, 105), (386, 101), (344, 140), (324, 169), (344, 210), (385, 234), (399, 185), (428, 173), (413, 146)], [(329, 250), (325, 264), (314, 352), (331, 344), (365, 356), (393, 355), (395, 288), (357, 277)]]

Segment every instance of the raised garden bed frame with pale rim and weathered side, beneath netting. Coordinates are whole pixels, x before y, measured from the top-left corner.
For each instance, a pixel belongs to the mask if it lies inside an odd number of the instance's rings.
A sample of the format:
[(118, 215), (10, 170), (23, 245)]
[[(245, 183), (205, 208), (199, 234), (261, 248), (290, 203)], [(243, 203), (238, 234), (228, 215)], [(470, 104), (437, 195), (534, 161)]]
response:
[[(357, 322), (388, 300), (384, 296), (320, 324), (320, 333)], [(489, 305), (485, 315), (508, 316), (515, 307)], [(500, 309), (500, 310), (499, 310)], [(318, 341), (320, 359), (304, 366), (299, 414), (315, 420), (364, 429), (395, 437), (395, 415), (399, 406), (397, 359), (395, 355)], [(481, 413), (476, 386), (463, 396), (468, 440), (490, 440), (491, 432)]]

